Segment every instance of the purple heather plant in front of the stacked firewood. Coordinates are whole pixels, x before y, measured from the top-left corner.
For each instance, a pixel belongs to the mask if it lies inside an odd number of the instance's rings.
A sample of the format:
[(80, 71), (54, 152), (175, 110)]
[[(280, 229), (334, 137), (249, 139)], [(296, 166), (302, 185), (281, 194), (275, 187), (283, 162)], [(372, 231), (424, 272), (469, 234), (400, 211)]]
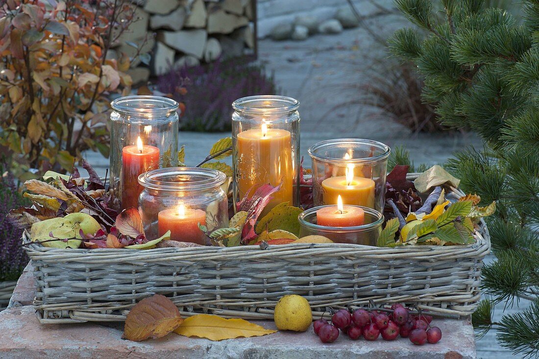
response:
[[(178, 86), (181, 84), (181, 86)], [(247, 58), (218, 59), (182, 67), (161, 76), (158, 90), (185, 104), (184, 131), (230, 131), (232, 102), (257, 94), (275, 94), (272, 77)]]

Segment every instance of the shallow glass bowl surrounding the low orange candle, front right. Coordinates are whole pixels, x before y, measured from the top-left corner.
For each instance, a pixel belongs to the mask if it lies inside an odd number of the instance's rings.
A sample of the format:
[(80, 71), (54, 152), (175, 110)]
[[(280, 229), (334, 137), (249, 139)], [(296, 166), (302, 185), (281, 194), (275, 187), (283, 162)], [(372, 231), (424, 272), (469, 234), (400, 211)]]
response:
[(382, 232), (384, 216), (375, 209), (361, 207), (365, 212), (364, 224), (353, 227), (320, 226), (316, 223), (316, 212), (324, 207), (309, 208), (298, 216), (300, 222), (300, 238), (307, 235), (322, 235), (335, 243), (376, 246), (376, 241)]

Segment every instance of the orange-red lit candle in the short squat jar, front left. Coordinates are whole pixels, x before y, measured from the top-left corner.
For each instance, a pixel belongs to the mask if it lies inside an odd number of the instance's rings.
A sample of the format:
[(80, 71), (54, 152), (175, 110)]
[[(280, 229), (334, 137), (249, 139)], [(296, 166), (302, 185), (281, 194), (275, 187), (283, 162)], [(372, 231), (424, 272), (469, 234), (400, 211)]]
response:
[(206, 225), (206, 212), (202, 209), (185, 208), (180, 204), (176, 208), (163, 209), (157, 215), (158, 234), (170, 231), (170, 240), (198, 243), (205, 245), (204, 232), (198, 223)]

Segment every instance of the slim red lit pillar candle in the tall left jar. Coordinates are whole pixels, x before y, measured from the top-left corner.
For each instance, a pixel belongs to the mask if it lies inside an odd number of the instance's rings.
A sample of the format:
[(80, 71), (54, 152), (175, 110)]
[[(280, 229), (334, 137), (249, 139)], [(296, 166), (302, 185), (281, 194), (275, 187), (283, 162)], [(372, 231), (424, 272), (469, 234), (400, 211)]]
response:
[(122, 209), (139, 208), (139, 195), (142, 186), (139, 175), (159, 168), (159, 148), (143, 145), (137, 138), (137, 144), (122, 149)]

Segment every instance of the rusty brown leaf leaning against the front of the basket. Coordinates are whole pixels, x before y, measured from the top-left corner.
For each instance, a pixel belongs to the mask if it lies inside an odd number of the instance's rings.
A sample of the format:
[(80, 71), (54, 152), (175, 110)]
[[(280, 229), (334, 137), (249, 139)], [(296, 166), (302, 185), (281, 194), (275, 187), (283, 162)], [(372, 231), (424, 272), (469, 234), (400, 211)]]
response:
[(183, 322), (178, 308), (164, 295), (154, 294), (137, 303), (129, 311), (123, 337), (139, 342), (161, 338)]

